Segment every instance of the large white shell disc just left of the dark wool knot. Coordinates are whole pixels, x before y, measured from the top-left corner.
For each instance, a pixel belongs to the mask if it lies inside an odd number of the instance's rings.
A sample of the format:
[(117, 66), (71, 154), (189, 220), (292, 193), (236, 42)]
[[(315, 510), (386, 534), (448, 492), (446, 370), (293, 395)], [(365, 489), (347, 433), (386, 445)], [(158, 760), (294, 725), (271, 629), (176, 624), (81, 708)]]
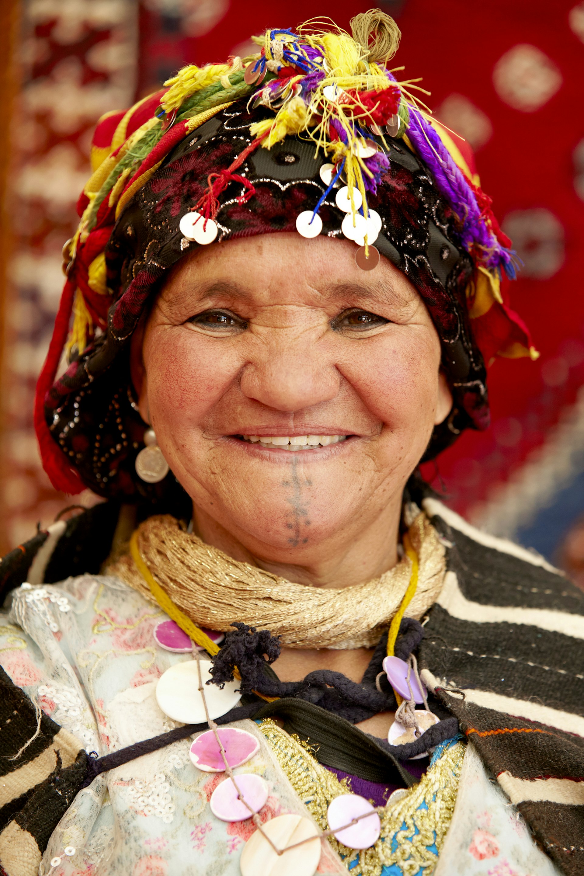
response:
[[(221, 717), (233, 709), (242, 698), (237, 686), (241, 682), (226, 682), (223, 689), (216, 684), (207, 684), (211, 678), (211, 661), (201, 660), (201, 680), (209, 717)], [(160, 709), (182, 724), (202, 724), (207, 721), (203, 698), (199, 691), (197, 661), (176, 663), (158, 679), (156, 700)]]

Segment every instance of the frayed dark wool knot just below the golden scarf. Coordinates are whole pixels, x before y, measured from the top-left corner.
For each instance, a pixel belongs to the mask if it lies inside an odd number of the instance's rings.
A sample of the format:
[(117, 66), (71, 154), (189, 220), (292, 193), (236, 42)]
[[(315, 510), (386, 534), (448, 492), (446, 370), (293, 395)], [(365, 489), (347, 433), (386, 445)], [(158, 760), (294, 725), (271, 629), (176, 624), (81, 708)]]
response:
[(227, 632), (225, 640), (215, 657), (211, 659), (211, 679), (208, 683), (222, 688), (225, 682), (234, 678), (234, 669), (239, 669), (242, 677), (240, 689), (249, 694), (257, 689), (264, 676), (266, 664), (270, 666), (280, 655), (279, 636), (272, 636), (269, 630), (257, 631), (255, 626), (234, 623), (235, 632)]

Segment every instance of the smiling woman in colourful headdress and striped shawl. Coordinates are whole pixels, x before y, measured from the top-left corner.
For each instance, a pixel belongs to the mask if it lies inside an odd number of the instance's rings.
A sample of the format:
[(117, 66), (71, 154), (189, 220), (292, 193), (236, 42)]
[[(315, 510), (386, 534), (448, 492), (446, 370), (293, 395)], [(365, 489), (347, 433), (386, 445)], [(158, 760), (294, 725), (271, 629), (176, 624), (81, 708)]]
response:
[(531, 352), (510, 242), (352, 31), (98, 124), (36, 421), (108, 501), (2, 564), (8, 876), (584, 868), (580, 593), (416, 473)]

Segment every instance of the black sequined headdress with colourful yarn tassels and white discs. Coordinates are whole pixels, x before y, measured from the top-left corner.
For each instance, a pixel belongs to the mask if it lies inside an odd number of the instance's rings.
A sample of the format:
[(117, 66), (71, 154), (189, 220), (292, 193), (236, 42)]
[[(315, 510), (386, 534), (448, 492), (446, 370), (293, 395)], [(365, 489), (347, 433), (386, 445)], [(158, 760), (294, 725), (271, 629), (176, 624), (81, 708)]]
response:
[[(365, 270), (390, 258), (433, 317), (454, 393), (428, 457), (488, 425), (485, 361), (537, 355), (503, 300), (515, 267), (488, 196), (416, 86), (388, 68), (397, 25), (370, 11), (351, 28), (268, 31), (255, 55), (185, 67), (100, 120), (37, 393), (56, 487), (160, 495), (133, 472), (145, 426), (128, 340), (165, 272), (196, 245), (295, 228), (353, 240)], [(64, 349), (70, 364), (53, 384)]]

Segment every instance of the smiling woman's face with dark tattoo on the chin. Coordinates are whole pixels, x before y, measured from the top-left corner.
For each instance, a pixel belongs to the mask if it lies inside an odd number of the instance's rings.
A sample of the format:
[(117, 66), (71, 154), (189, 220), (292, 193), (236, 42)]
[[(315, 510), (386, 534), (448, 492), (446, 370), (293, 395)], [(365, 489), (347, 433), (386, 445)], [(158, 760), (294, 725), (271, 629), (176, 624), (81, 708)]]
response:
[(257, 555), (294, 562), (398, 506), (452, 405), (418, 293), (354, 257), (297, 234), (201, 248), (135, 335), (140, 413), (195, 513)]

